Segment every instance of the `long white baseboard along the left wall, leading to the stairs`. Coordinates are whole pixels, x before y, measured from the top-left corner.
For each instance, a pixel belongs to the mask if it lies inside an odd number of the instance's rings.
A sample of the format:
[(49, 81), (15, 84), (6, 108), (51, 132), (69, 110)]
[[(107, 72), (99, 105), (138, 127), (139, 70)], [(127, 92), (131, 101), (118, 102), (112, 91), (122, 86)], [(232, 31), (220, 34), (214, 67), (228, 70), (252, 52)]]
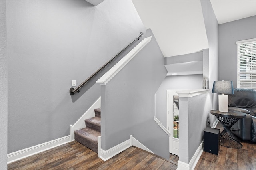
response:
[(7, 164), (70, 142), (70, 135), (7, 154)]

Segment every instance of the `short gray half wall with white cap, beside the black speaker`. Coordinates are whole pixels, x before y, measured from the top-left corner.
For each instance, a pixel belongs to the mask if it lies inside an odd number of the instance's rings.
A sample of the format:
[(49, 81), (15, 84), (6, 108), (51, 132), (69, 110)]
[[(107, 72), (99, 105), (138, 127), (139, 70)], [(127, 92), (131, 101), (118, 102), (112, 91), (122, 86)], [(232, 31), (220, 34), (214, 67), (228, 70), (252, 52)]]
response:
[(180, 143), (179, 160), (189, 164), (203, 140), (203, 130), (206, 128), (208, 103), (210, 93), (180, 97)]

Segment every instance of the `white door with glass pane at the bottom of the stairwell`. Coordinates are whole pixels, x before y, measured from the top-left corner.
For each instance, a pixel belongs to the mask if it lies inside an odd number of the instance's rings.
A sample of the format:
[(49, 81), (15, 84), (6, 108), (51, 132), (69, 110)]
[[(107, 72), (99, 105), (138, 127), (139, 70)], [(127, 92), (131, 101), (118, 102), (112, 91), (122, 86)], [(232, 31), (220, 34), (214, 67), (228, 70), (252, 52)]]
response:
[(171, 136), (169, 138), (169, 151), (171, 154), (179, 156), (179, 109), (178, 94), (176, 91), (167, 91), (167, 130)]

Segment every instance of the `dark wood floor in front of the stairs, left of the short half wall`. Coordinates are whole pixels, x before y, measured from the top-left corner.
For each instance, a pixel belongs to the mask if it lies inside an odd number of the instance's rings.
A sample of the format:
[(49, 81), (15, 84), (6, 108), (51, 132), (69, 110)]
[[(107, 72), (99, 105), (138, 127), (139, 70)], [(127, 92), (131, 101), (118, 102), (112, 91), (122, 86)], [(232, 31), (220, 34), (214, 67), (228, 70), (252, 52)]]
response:
[(172, 160), (164, 160), (130, 147), (104, 162), (98, 154), (74, 141), (8, 164), (8, 170), (175, 170)]

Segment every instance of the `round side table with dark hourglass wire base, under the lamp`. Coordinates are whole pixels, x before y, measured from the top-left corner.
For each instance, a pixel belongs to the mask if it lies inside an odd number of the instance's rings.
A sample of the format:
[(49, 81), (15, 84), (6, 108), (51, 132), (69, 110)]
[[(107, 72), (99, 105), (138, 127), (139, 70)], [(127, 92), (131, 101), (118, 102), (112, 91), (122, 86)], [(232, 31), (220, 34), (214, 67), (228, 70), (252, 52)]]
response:
[(246, 113), (231, 110), (228, 112), (211, 110), (210, 112), (217, 117), (224, 127), (224, 130), (220, 133), (220, 145), (227, 148), (242, 148), (243, 145), (234, 136), (230, 128), (238, 121), (238, 119), (246, 117)]

